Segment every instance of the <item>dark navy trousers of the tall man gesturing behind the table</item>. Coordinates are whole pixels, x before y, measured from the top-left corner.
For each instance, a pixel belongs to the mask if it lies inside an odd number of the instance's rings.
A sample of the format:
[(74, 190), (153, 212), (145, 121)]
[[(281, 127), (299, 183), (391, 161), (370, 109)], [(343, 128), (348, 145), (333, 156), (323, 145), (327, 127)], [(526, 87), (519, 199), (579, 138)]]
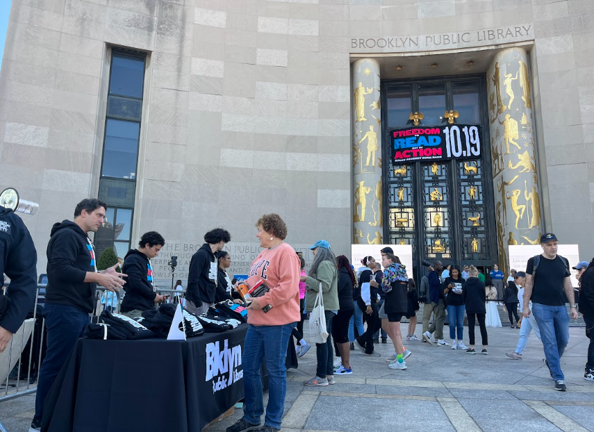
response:
[(47, 329), (47, 354), (41, 364), (35, 396), (34, 418), (38, 422), (42, 419), (43, 404), (53, 381), (90, 322), (88, 313), (64, 304), (46, 303), (42, 315)]

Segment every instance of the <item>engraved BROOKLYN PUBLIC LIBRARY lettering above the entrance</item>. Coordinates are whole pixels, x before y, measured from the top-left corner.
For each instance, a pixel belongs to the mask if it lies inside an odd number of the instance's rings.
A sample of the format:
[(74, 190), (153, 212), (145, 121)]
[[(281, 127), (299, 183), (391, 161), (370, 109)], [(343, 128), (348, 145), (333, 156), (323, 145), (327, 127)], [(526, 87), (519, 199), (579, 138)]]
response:
[(528, 36), (531, 26), (510, 26), (490, 28), (488, 30), (466, 31), (462, 33), (445, 33), (440, 35), (406, 36), (404, 38), (370, 38), (351, 39), (351, 48), (419, 48), (444, 47), (452, 44), (468, 44), (471, 42), (502, 42), (511, 38)]

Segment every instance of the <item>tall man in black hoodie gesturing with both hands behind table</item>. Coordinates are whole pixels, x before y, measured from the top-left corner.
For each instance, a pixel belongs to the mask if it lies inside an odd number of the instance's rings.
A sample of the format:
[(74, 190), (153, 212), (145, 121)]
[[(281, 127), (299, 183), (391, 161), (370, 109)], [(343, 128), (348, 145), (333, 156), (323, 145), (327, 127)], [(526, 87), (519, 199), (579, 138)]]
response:
[(47, 288), (43, 317), (47, 328), (47, 354), (41, 365), (35, 417), (31, 430), (41, 429), (45, 397), (65, 363), (70, 351), (89, 324), (97, 284), (109, 291), (119, 291), (120, 279), (115, 267), (97, 272), (89, 231), (97, 232), (105, 218), (106, 203), (83, 199), (74, 209), (74, 222), (64, 220), (53, 225), (47, 244)]

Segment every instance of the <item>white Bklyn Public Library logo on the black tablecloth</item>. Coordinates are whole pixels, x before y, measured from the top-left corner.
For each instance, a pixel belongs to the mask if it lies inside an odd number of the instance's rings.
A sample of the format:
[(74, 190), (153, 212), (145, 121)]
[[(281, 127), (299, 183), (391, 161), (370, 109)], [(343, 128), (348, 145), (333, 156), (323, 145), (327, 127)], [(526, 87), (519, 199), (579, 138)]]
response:
[[(243, 379), (241, 366), (241, 345), (229, 348), (229, 340), (224, 340), (223, 349), (220, 342), (206, 344), (206, 380), (213, 380), (213, 394)], [(228, 374), (228, 376), (225, 376)], [(218, 379), (217, 379), (218, 377)]]

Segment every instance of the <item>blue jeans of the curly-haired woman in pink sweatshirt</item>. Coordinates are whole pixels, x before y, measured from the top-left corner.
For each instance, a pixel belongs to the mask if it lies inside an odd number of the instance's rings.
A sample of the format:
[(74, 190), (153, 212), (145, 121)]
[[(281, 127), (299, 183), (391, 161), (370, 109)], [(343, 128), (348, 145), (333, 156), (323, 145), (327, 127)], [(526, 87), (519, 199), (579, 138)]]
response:
[(289, 336), (295, 323), (282, 326), (252, 326), (245, 335), (243, 349), (243, 389), (245, 407), (243, 418), (251, 424), (260, 424), (264, 414), (260, 368), (266, 360), (268, 369), (268, 405), (264, 424), (281, 429), (287, 392), (287, 369), (285, 357)]

